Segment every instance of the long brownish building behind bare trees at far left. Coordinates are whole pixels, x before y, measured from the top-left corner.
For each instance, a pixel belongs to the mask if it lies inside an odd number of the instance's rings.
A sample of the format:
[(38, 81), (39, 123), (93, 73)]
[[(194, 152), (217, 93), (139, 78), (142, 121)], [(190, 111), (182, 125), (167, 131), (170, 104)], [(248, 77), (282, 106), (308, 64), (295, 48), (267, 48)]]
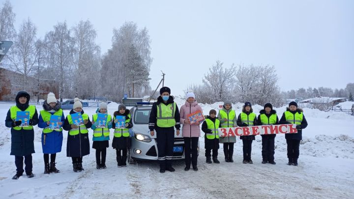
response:
[(25, 90), (31, 99), (44, 99), (49, 92), (59, 98), (59, 84), (56, 80), (45, 80), (27, 77), (18, 72), (0, 67), (0, 100), (13, 101), (18, 91)]

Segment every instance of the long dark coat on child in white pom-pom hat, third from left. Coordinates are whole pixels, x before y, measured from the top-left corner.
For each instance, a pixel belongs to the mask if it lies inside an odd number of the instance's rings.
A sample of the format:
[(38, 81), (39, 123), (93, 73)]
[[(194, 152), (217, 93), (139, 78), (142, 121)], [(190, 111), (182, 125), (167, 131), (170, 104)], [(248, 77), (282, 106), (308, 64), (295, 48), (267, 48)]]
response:
[[(69, 114), (75, 114), (74, 110), (71, 110)], [(81, 114), (84, 114), (84, 110), (81, 111)], [(86, 128), (91, 128), (91, 121), (88, 119), (88, 123), (85, 124)], [(78, 135), (71, 136), (69, 131), (72, 129), (71, 124), (67, 119), (67, 116), (64, 121), (63, 129), (68, 131), (68, 137), (66, 142), (66, 156), (67, 157), (83, 157), (89, 155), (89, 134), (88, 133), (79, 133)]]

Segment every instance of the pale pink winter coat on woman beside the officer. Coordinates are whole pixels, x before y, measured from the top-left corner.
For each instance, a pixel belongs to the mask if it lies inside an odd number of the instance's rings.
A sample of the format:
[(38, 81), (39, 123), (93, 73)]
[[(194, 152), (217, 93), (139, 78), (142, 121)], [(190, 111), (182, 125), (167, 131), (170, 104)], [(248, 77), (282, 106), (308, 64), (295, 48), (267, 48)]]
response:
[[(179, 109), (179, 116), (180, 116), (180, 124), (183, 125), (182, 127), (182, 136), (183, 137), (200, 137), (200, 128), (199, 125), (189, 125), (184, 124), (184, 120), (188, 118), (188, 114), (194, 113), (196, 111), (201, 111), (203, 114), (202, 107), (198, 105), (197, 101), (194, 101), (192, 104), (189, 102), (185, 102)], [(203, 114), (204, 115), (204, 114)], [(201, 124), (200, 124), (201, 125)]]

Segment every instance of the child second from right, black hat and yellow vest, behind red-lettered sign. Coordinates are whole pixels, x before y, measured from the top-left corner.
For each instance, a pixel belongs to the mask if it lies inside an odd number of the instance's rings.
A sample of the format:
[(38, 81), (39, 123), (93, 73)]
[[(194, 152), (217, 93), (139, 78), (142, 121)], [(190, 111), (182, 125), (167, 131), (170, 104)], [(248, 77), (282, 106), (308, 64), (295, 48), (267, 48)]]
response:
[[(273, 110), (273, 106), (270, 103), (266, 103), (264, 109), (260, 111), (257, 118), (258, 125), (277, 125), (279, 119), (276, 111)], [(262, 136), (262, 164), (272, 164), (274, 162), (274, 139), (275, 134), (261, 135)]]

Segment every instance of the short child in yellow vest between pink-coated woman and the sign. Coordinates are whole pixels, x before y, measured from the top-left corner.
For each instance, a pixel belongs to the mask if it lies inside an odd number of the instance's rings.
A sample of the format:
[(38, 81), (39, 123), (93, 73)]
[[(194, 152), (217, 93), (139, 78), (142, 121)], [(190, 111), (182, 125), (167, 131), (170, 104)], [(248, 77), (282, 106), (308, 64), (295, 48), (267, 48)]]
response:
[(207, 164), (211, 164), (211, 150), (213, 162), (216, 164), (220, 163), (217, 159), (219, 149), (218, 128), (221, 128), (220, 120), (216, 118), (216, 111), (212, 109), (209, 111), (209, 116), (207, 116), (207, 119), (204, 120), (202, 124), (202, 131), (206, 133), (204, 139)]

